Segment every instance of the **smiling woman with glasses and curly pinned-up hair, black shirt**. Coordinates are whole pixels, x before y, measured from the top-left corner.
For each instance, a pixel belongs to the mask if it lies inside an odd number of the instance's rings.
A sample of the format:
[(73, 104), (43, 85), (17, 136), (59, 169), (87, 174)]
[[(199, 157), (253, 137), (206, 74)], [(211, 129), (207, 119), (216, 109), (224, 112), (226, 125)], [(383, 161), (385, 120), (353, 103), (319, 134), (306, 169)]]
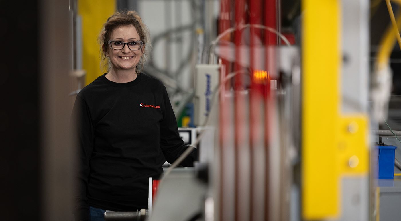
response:
[[(186, 150), (166, 88), (140, 73), (150, 42), (138, 14), (115, 13), (99, 39), (111, 68), (79, 92), (73, 110), (79, 121), (76, 220), (148, 208), (148, 178), (158, 178), (165, 160), (172, 163)], [(196, 155), (181, 165), (192, 166)]]

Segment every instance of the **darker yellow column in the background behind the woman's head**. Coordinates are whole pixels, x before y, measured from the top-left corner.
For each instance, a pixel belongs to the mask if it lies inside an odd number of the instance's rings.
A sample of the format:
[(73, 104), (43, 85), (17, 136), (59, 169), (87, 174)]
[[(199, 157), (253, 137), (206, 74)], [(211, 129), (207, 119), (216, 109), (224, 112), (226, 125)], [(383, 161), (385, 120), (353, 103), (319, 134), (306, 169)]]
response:
[(115, 0), (78, 0), (78, 14), (82, 18), (82, 63), (86, 71), (85, 85), (99, 75), (100, 45), (98, 36), (103, 24), (115, 12)]

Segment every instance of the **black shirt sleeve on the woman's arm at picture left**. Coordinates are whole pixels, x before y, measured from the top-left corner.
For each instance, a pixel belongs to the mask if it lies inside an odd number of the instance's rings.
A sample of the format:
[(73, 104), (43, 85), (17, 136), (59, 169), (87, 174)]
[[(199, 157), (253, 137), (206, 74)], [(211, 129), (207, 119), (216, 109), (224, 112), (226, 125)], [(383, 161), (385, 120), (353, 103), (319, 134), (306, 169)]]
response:
[(89, 176), (89, 159), (93, 150), (94, 128), (87, 103), (77, 96), (72, 113), (72, 122), (75, 122), (77, 144), (77, 174), (75, 185), (77, 187), (74, 215), (76, 221), (89, 219), (89, 203), (87, 199), (87, 185)]

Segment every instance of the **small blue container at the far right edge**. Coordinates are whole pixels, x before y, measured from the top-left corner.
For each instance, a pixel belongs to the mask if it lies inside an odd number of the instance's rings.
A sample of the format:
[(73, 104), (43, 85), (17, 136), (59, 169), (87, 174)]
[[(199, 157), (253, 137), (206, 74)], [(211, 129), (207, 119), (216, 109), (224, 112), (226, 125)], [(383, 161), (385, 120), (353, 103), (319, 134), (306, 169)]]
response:
[(395, 146), (377, 146), (379, 149), (379, 179), (393, 179), (394, 178), (394, 155)]

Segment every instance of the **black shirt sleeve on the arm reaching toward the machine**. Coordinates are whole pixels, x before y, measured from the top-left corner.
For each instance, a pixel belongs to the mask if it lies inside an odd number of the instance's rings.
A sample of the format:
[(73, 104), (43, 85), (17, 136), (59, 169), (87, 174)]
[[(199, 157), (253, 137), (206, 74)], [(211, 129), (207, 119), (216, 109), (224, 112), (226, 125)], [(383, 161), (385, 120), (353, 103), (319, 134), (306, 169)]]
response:
[[(178, 134), (177, 120), (171, 107), (166, 88), (163, 86), (164, 114), (160, 121), (160, 147), (167, 162), (172, 164), (186, 150)], [(181, 163), (181, 166), (193, 166), (198, 158), (198, 150), (193, 150)]]

